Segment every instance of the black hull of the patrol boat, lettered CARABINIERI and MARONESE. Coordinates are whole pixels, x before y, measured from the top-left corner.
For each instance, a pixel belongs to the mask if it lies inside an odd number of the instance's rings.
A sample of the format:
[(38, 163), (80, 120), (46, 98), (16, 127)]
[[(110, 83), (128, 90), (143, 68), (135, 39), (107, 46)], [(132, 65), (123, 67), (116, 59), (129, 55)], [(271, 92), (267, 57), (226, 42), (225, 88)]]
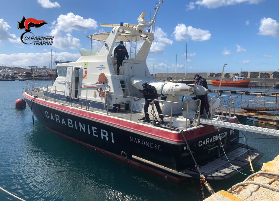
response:
[[(187, 168), (195, 169), (195, 163), (186, 149), (185, 142), (173, 142), (117, 125), (106, 124), (101, 120), (93, 120), (87, 116), (71, 114), (70, 110), (74, 108), (68, 108), (69, 112), (66, 112), (36, 101), (31, 102), (28, 98), (25, 100), (43, 126), (56, 134), (153, 172), (163, 179), (180, 182), (185, 178), (199, 177), (196, 174), (177, 174), (177, 172), (181, 173)], [(206, 130), (206, 126), (204, 129)], [(222, 129), (221, 132), (228, 134), (227, 142), (224, 141), (226, 152), (239, 146), (238, 130), (232, 133), (232, 129)], [(230, 132), (231, 135), (229, 135)], [(187, 140), (200, 166), (217, 159), (218, 155), (222, 155), (220, 146), (219, 149), (208, 149), (212, 143), (207, 139), (210, 138), (214, 141), (214, 136), (217, 142), (218, 132)], [(155, 165), (138, 158), (151, 161)], [(208, 179), (214, 178), (208, 176)]]

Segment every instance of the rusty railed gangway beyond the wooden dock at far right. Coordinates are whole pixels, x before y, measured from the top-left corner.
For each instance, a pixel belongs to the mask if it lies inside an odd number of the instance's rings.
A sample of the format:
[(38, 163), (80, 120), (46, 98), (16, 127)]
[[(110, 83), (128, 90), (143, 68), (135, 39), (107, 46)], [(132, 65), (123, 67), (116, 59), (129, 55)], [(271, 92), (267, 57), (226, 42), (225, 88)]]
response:
[(279, 93), (250, 93), (252, 97), (248, 97), (246, 100), (242, 99), (241, 95), (241, 109), (247, 111), (273, 111), (279, 110)]

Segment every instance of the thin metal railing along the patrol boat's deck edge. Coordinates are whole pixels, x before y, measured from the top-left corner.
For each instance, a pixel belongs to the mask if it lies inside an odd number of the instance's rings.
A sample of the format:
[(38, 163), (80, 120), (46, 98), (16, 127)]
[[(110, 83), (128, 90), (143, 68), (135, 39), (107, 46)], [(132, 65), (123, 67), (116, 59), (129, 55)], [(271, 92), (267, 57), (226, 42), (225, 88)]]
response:
[[(38, 87), (36, 87), (36, 85)], [(27, 93), (30, 93), (30, 95), (37, 95), (37, 97), (39, 97), (39, 92), (42, 91), (42, 88), (40, 88), (40, 86), (44, 86), (42, 84), (38, 84), (38, 83), (35, 83), (35, 82), (32, 82), (29, 83), (27, 82), (26, 83), (26, 92)], [(59, 94), (57, 94), (57, 92), (62, 92), (64, 93), (64, 91), (60, 91), (60, 90), (57, 90), (56, 87), (54, 89), (51, 89), (48, 85), (45, 85), (46, 87), (45, 88), (45, 95), (44, 95), (44, 99), (45, 101), (53, 101), (55, 103), (59, 102), (59, 100), (61, 100), (61, 97), (59, 97)], [(71, 96), (71, 90), (80, 90), (80, 91), (84, 91), (84, 90), (81, 90), (81, 89), (73, 89), (73, 88), (69, 88), (69, 94)], [(36, 93), (36, 94), (34, 94)], [(54, 94), (54, 97), (53, 98), (48, 98), (48, 93), (53, 93)], [(90, 90), (89, 90), (89, 93), (90, 93)], [(141, 97), (134, 97), (134, 96), (125, 96), (123, 94), (121, 95), (118, 95), (118, 94), (115, 94), (113, 92), (106, 92), (104, 91), (103, 92), (104, 95), (103, 95), (103, 102), (100, 102), (99, 104), (102, 104), (104, 106), (104, 109), (97, 109), (95, 107), (92, 107), (92, 103), (90, 103), (92, 101), (92, 98), (89, 98), (88, 99), (88, 90), (86, 90), (86, 97), (85, 97), (85, 100), (83, 100), (82, 102), (80, 102), (80, 105), (76, 106), (76, 104), (72, 103), (72, 98), (62, 98), (62, 99), (65, 99), (64, 102), (68, 102), (68, 106), (73, 106), (74, 107), (77, 107), (77, 108), (80, 108), (80, 109), (84, 109), (87, 110), (87, 111), (92, 111), (92, 112), (97, 112), (97, 113), (101, 113), (101, 114), (105, 114), (105, 115), (108, 115), (108, 116), (113, 116), (112, 113), (115, 114), (115, 111), (127, 111), (126, 113), (123, 113), (123, 115), (121, 116), (121, 118), (124, 118), (124, 119), (127, 119), (127, 120), (130, 120), (130, 121), (137, 121), (137, 119), (133, 118), (133, 114), (139, 114), (139, 113), (143, 113), (143, 104), (138, 104), (138, 105), (135, 105), (133, 102), (134, 101), (137, 101), (137, 100), (148, 100), (148, 99), (145, 99), (145, 98), (141, 98)], [(223, 95), (224, 96), (224, 95)], [(125, 101), (130, 101), (129, 102), (129, 107), (128, 108), (123, 108), (123, 107), (120, 107), (120, 104), (112, 104), (112, 100), (114, 98), (118, 98), (118, 97), (121, 97), (121, 98), (125, 98), (124, 100)], [(236, 97), (232, 97), (232, 96), (228, 96), (229, 97), (229, 103), (228, 105), (225, 105), (224, 104), (224, 100), (223, 100), (223, 97), (219, 97), (221, 98), (222, 102), (221, 102), (221, 106), (218, 106), (218, 107), (221, 107), (221, 110), (219, 110), (219, 115), (221, 116), (221, 120), (223, 120), (223, 117), (230, 117), (230, 116), (234, 116), (235, 114), (235, 104), (233, 103), (233, 100), (236, 101)], [(58, 100), (57, 100), (58, 98)], [(213, 97), (211, 99), (211, 108), (210, 108), (210, 118), (212, 119), (212, 112), (213, 111), (216, 111), (217, 108), (213, 108), (212, 105), (213, 105), (213, 99), (214, 98), (217, 98), (217, 97)], [(110, 101), (109, 101), (110, 99)], [(63, 101), (63, 100), (62, 100)], [(192, 102), (197, 102), (197, 105), (198, 105), (198, 108), (197, 108), (197, 111), (192, 111), (192, 112), (195, 112), (195, 117), (194, 118), (190, 118), (191, 120), (191, 123), (194, 124), (195, 126), (199, 126), (200, 125), (200, 105), (201, 105), (201, 101), (200, 99), (196, 99), (196, 100), (192, 100), (192, 101), (187, 101), (187, 102), (182, 102), (182, 101), (179, 101), (179, 102), (174, 102), (174, 101), (166, 101), (166, 100), (159, 100), (159, 99), (155, 99), (155, 100), (149, 100), (150, 103), (151, 103), (151, 106), (152, 106), (152, 110), (151, 112), (148, 112), (149, 115), (152, 116), (152, 126), (156, 126), (156, 115), (162, 115), (164, 116), (167, 120), (169, 120), (169, 125), (165, 125), (167, 127), (169, 127), (169, 130), (173, 130), (173, 118), (176, 118), (176, 117), (179, 117), (179, 116), (184, 116), (185, 117), (185, 128), (187, 128), (188, 126), (188, 113), (189, 113), (189, 103), (192, 103)], [(155, 112), (155, 102), (158, 101), (161, 105), (164, 104), (167, 104), (166, 107), (170, 107), (170, 110), (167, 108), (167, 113), (168, 114), (159, 114), (158, 111)], [(184, 108), (183, 108), (183, 105), (182, 106), (179, 106), (178, 104), (184, 104)], [(234, 104), (234, 109), (232, 107), (232, 104)], [(134, 107), (133, 107), (134, 105)], [(178, 109), (180, 108), (180, 110)], [(112, 109), (112, 110), (110, 110)], [(223, 111), (224, 109), (226, 110), (226, 113), (225, 115), (223, 114)], [(181, 115), (182, 113), (182, 110), (185, 111), (185, 115)], [(220, 114), (221, 113), (221, 114)], [(129, 117), (127, 116), (127, 114), (130, 114)], [(207, 117), (208, 117), (209, 113), (207, 114)], [(114, 115), (115, 116), (115, 115)], [(118, 116), (118, 115), (117, 115)], [(140, 121), (140, 120), (139, 120)], [(167, 121), (168, 122), (168, 121)]]

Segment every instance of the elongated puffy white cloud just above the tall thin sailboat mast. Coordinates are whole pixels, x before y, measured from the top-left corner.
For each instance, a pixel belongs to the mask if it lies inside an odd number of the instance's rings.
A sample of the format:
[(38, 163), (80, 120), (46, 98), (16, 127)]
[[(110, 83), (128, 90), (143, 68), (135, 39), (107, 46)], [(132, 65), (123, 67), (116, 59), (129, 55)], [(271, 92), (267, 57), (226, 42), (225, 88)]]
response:
[(204, 41), (211, 38), (211, 34), (208, 30), (197, 29), (192, 26), (186, 27), (185, 24), (178, 24), (174, 28), (172, 35), (174, 36), (174, 39), (178, 41), (188, 40), (188, 37), (194, 41)]

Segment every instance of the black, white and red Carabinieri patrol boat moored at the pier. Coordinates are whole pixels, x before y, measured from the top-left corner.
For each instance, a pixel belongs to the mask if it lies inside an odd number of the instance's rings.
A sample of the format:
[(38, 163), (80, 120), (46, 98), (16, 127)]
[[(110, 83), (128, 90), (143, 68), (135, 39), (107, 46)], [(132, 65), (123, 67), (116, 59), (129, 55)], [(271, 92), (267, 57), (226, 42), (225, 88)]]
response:
[[(220, 99), (210, 95), (212, 115), (200, 115), (200, 100), (190, 96), (207, 94), (207, 89), (158, 81), (151, 76), (146, 58), (154, 40), (152, 29), (161, 3), (162, 0), (149, 23), (143, 12), (138, 25), (101, 24), (112, 30), (87, 36), (91, 43), (101, 42), (99, 51), (83, 50), (76, 62), (56, 65), (58, 77), (53, 86), (41, 88), (27, 83), (23, 96), (46, 129), (163, 179), (179, 182), (199, 178), (199, 171), (206, 179), (228, 178), (236, 170), (249, 166), (247, 151), (252, 163), (262, 153), (246, 145), (243, 148), (239, 144), (239, 130), (202, 123), (205, 120), (238, 123), (233, 112), (213, 115), (220, 107)], [(120, 66), (120, 75), (116, 75), (113, 50), (120, 41), (124, 41), (130, 56)], [(156, 120), (156, 100), (150, 100), (151, 121), (142, 121), (145, 100), (140, 90), (144, 82), (161, 95), (157, 101), (165, 117), (164, 124)]]

